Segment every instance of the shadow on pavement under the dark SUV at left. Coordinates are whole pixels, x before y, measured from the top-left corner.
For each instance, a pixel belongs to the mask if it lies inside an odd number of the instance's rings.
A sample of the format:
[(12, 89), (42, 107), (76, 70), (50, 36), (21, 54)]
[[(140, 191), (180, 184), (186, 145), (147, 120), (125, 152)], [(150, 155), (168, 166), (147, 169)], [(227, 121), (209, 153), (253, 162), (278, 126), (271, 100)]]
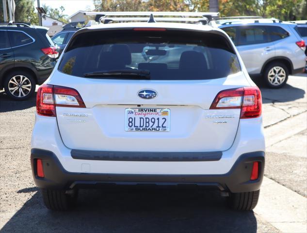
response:
[(0, 92), (0, 113), (12, 112), (32, 108), (36, 105), (36, 92), (28, 100), (16, 101), (6, 96), (5, 92)]

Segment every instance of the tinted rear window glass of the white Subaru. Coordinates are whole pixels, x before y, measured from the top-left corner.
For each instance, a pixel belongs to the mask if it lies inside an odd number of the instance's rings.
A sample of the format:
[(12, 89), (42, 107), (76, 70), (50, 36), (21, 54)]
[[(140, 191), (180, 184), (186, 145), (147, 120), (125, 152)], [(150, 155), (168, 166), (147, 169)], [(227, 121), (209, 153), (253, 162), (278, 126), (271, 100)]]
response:
[(151, 80), (205, 80), (226, 77), (241, 67), (230, 43), (221, 35), (122, 30), (77, 35), (65, 50), (59, 70), (88, 78), (91, 72), (145, 70)]

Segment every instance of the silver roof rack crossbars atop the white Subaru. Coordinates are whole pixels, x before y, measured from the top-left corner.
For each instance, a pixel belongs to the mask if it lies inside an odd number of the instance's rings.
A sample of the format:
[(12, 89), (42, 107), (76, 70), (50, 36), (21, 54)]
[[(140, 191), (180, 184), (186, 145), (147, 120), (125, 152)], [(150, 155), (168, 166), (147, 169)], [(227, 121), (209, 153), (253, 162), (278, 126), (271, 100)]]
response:
[[(109, 23), (112, 21), (147, 21), (147, 22), (200, 22), (207, 24), (218, 12), (84, 12), (87, 16), (96, 16), (96, 21)], [(140, 17), (143, 16), (143, 17)], [(144, 17), (144, 16), (149, 16)], [(161, 16), (161, 17), (156, 17)]]

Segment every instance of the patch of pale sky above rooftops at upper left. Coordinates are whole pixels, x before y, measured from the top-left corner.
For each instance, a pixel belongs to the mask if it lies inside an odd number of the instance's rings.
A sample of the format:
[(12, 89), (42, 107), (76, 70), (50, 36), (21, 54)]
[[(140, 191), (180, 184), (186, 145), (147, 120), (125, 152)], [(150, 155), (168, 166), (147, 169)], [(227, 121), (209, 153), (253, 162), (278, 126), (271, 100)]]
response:
[[(37, 6), (37, 0), (35, 2), (35, 7)], [(88, 6), (91, 10), (94, 9), (93, 0), (40, 0), (40, 5), (46, 4), (52, 8), (60, 8), (64, 6), (65, 11), (63, 12), (67, 16), (71, 16), (79, 10), (85, 10)]]

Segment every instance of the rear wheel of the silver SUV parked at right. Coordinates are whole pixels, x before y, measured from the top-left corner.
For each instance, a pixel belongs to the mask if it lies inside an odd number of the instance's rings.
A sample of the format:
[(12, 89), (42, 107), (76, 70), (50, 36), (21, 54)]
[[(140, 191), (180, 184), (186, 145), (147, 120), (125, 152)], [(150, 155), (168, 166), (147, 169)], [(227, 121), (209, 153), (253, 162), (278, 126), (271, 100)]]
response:
[(289, 76), (288, 68), (280, 62), (273, 62), (265, 67), (263, 78), (271, 88), (280, 88), (287, 83)]

